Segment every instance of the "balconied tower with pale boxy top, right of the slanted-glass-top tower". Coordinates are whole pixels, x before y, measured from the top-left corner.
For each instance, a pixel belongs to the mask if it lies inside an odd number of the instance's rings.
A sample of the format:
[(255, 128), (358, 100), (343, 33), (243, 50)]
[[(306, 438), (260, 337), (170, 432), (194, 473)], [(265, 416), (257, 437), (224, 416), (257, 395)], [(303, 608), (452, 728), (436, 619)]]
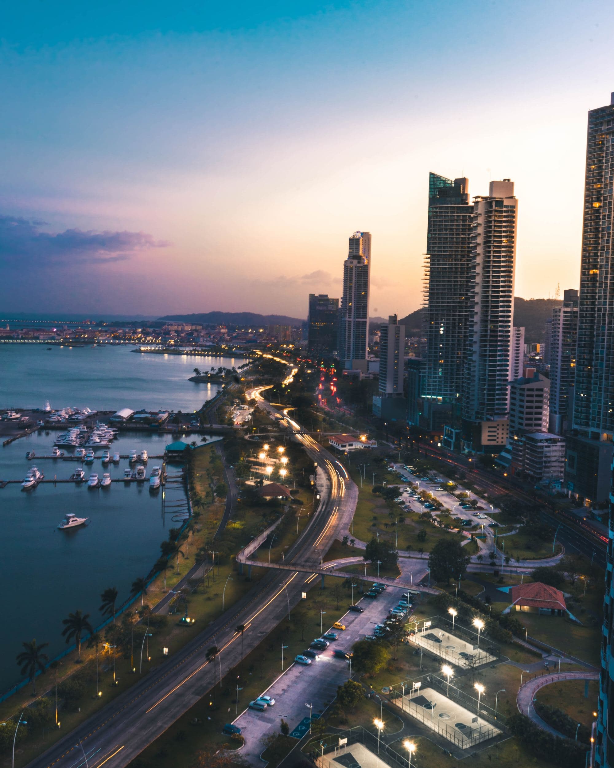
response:
[(489, 194), (474, 198), (462, 415), (465, 445), (478, 450), (480, 422), (507, 419), (517, 217), (510, 179), (491, 181)]

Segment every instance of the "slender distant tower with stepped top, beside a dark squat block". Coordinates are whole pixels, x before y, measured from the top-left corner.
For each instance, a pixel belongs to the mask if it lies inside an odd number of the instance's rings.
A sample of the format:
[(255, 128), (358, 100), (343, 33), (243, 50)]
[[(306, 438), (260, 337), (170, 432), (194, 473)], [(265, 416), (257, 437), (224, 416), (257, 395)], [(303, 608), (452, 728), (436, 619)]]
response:
[[(371, 234), (355, 232), (343, 264), (338, 352), (346, 368), (365, 368), (368, 348)], [(364, 362), (360, 362), (364, 361)]]

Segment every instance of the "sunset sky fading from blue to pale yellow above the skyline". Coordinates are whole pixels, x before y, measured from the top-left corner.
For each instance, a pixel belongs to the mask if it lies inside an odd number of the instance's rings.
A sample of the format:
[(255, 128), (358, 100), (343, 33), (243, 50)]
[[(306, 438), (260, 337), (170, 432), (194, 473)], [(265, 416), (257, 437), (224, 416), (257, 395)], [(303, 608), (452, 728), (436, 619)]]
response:
[(511, 178), (517, 296), (577, 287), (614, 5), (20, 0), (0, 8), (2, 312), (305, 317), (372, 235), (421, 305), (429, 171)]

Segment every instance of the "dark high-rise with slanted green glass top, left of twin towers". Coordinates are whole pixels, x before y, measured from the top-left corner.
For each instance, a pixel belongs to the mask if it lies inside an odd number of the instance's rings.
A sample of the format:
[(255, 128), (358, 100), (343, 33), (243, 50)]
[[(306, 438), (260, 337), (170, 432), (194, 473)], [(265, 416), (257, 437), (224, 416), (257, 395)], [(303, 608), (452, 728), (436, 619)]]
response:
[(427, 352), (425, 401), (460, 401), (470, 310), (470, 235), (474, 206), (469, 180), (428, 178), (427, 254), (424, 309)]

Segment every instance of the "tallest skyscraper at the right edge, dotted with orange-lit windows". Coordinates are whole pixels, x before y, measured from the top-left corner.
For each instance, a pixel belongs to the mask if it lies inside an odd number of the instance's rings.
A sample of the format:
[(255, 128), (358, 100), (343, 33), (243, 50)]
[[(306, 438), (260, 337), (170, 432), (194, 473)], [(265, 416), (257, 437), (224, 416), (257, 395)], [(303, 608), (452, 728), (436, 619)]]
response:
[[(609, 106), (589, 111), (586, 141), (573, 434), (568, 440), (566, 478), (569, 491), (587, 502), (606, 502), (609, 497), (606, 467), (614, 435), (612, 180), (614, 94)], [(589, 455), (592, 461), (587, 460)]]

